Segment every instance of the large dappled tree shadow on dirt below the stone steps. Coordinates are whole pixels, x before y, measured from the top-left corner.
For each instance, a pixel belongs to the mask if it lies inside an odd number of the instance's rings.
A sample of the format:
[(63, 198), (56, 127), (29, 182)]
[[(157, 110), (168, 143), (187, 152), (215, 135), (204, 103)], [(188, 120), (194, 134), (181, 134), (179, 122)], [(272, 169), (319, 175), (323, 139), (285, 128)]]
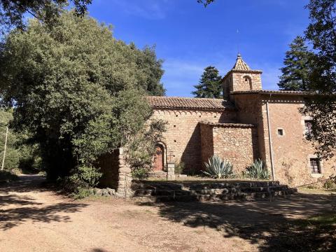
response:
[[(260, 251), (335, 251), (335, 221), (307, 221), (331, 211), (334, 197), (297, 194), (272, 202), (167, 202), (154, 204), (169, 221), (212, 228), (223, 237), (241, 237)], [(139, 203), (153, 204), (153, 203)]]

